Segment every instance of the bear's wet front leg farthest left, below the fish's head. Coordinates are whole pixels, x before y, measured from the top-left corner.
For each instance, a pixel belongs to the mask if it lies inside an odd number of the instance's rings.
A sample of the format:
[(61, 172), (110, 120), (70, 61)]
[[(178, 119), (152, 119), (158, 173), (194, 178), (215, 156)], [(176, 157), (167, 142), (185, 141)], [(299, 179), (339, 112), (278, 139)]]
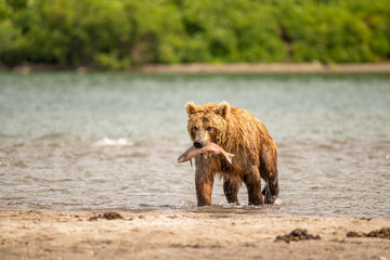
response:
[(195, 186), (198, 207), (211, 206), (212, 184), (212, 173), (204, 171), (199, 167), (196, 167)]

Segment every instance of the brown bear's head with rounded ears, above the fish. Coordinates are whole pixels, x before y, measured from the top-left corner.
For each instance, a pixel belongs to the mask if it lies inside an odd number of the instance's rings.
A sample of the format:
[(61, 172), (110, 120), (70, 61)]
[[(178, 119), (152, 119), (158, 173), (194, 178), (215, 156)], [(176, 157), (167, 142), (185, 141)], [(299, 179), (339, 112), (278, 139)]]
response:
[(202, 148), (210, 141), (219, 143), (226, 133), (226, 125), (231, 106), (227, 102), (203, 106), (188, 102), (185, 105), (188, 115), (187, 130), (196, 148)]

